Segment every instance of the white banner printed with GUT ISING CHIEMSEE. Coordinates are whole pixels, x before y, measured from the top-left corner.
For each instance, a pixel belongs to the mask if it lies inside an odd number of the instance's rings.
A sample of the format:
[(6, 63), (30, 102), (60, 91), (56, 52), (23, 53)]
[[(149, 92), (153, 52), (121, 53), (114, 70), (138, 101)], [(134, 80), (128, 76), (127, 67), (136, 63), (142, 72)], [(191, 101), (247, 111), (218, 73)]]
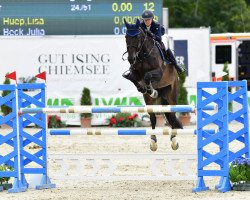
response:
[[(22, 37), (1, 38), (0, 77), (16, 71), (17, 78), (46, 71), (50, 92), (134, 90), (122, 77), (129, 69), (122, 60), (124, 37)], [(126, 56), (125, 56), (126, 57)]]

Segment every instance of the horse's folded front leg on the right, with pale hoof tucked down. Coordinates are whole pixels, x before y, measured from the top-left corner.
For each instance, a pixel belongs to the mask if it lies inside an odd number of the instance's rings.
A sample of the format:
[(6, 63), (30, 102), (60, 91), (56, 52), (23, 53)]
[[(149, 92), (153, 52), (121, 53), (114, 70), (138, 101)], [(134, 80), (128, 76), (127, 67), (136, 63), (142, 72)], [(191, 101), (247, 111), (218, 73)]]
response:
[(159, 72), (159, 70), (152, 70), (149, 71), (145, 74), (144, 76), (144, 81), (146, 84), (146, 92), (149, 94), (150, 97), (152, 98), (157, 98), (158, 97), (158, 92), (155, 90), (152, 86), (152, 82), (158, 82), (162, 78), (162, 73)]

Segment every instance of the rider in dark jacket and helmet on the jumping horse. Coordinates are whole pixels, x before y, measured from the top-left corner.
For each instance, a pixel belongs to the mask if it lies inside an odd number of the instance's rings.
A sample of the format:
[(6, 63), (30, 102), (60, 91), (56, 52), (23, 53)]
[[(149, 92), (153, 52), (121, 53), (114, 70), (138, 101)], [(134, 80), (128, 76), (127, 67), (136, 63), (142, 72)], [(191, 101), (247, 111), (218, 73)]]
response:
[(149, 35), (161, 44), (162, 49), (166, 53), (167, 60), (170, 61), (175, 66), (178, 74), (185, 72), (186, 69), (177, 64), (172, 51), (170, 49), (167, 50), (165, 49), (165, 45), (161, 41), (161, 36), (165, 34), (165, 29), (159, 23), (155, 22), (153, 18), (154, 14), (152, 11), (144, 10), (142, 13), (143, 20), (141, 22), (141, 28), (144, 29), (145, 31), (148, 31)]

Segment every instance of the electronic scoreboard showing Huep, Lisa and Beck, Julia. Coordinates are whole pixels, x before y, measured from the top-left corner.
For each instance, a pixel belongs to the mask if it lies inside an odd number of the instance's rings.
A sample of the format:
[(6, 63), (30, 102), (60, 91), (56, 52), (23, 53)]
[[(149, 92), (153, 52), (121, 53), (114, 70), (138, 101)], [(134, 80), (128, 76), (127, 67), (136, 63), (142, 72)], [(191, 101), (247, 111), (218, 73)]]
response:
[(162, 23), (162, 0), (0, 0), (0, 35), (122, 35), (146, 9)]

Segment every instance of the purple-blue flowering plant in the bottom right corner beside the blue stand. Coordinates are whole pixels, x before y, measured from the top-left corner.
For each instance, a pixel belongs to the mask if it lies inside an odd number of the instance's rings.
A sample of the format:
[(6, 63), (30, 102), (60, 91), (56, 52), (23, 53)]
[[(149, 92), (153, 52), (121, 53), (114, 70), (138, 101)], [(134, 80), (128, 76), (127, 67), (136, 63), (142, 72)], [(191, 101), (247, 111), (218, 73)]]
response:
[(229, 167), (232, 189), (250, 191), (250, 158), (237, 158)]

